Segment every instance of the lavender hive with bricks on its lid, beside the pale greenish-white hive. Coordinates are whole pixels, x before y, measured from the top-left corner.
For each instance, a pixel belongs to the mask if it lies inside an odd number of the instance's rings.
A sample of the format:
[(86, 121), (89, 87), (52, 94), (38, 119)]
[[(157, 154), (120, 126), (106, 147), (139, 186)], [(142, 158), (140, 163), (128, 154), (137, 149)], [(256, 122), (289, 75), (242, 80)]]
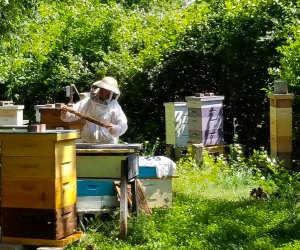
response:
[(224, 96), (187, 96), (188, 144), (204, 146), (224, 143)]

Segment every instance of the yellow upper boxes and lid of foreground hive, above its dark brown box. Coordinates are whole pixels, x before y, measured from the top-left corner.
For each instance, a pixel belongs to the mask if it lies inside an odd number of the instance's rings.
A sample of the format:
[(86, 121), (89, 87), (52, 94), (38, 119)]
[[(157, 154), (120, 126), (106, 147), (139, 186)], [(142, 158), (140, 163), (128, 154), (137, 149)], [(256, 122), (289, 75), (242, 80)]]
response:
[(2, 207), (57, 209), (76, 202), (77, 131), (0, 133)]

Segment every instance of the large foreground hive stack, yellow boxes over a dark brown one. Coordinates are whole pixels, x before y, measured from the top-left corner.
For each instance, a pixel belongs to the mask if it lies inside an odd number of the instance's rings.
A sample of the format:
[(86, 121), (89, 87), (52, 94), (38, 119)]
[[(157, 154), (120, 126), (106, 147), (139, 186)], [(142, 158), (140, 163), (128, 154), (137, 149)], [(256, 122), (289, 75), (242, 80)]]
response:
[(73, 234), (78, 137), (77, 131), (0, 133), (2, 242)]

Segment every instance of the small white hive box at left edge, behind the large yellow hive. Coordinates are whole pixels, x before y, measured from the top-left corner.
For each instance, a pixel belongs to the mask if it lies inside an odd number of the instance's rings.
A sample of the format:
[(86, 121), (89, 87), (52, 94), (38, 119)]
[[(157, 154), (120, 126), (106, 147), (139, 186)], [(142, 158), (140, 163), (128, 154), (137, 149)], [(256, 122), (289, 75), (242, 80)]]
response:
[(0, 125), (23, 125), (24, 105), (0, 106)]

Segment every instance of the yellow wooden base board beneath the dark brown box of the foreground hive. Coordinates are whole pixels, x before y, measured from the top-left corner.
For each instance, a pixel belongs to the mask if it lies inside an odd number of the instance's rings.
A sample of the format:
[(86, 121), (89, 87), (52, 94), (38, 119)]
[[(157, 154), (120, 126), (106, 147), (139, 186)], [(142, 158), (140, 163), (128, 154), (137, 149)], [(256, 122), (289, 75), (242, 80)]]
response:
[(60, 240), (2, 237), (2, 242), (32, 246), (64, 247), (80, 240), (83, 236), (83, 232), (77, 231), (74, 234)]

